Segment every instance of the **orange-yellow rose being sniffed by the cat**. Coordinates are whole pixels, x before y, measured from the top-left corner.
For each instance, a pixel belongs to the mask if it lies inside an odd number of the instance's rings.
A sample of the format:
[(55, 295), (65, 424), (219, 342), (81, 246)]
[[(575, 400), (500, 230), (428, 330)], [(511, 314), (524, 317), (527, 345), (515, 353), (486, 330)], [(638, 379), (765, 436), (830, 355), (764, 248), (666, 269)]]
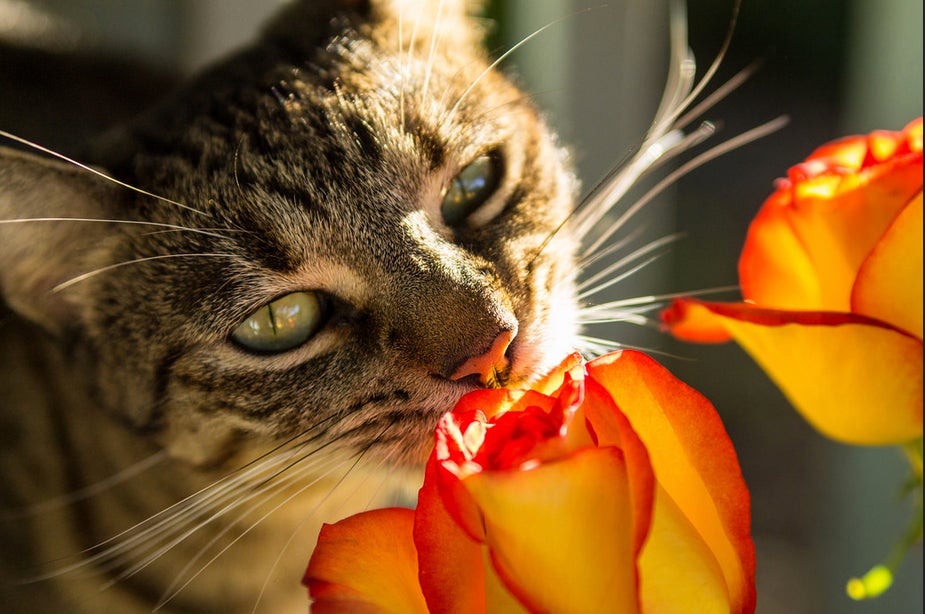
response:
[(645, 355), (576, 356), (533, 390), (471, 393), (435, 440), (416, 510), (322, 529), (314, 612), (754, 609), (732, 444)]

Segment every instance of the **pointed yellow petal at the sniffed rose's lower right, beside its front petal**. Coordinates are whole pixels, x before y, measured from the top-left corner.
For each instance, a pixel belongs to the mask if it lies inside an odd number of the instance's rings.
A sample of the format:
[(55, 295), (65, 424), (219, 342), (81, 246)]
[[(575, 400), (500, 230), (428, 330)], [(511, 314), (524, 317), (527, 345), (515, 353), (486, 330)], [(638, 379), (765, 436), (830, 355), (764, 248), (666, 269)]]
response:
[(646, 614), (728, 614), (723, 570), (697, 528), (659, 488), (649, 539), (639, 558), (640, 600)]

